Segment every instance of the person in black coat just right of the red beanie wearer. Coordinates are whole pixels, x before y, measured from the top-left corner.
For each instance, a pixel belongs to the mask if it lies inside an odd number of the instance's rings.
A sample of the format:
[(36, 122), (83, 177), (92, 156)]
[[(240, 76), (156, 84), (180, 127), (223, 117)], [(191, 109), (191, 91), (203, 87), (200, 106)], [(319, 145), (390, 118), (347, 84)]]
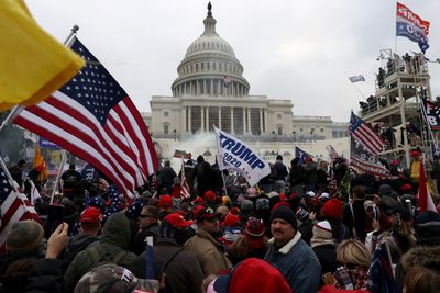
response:
[(350, 229), (353, 237), (365, 241), (366, 236), (366, 213), (364, 207), (365, 188), (355, 185), (351, 190), (352, 199), (344, 206), (342, 223)]

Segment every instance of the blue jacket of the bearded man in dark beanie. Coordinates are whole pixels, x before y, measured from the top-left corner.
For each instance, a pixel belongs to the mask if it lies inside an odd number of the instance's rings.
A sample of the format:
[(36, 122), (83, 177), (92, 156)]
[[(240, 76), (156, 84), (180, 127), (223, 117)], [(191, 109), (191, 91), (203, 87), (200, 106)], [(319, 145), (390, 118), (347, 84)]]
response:
[(264, 259), (284, 274), (295, 293), (318, 292), (321, 266), (314, 250), (301, 239), (299, 232), (277, 251), (272, 238)]

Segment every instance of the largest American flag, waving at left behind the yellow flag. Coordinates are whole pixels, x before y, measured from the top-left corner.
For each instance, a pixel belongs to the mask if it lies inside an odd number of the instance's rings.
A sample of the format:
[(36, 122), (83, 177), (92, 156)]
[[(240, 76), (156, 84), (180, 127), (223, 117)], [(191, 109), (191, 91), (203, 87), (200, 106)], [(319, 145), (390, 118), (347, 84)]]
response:
[(133, 191), (158, 168), (148, 129), (130, 97), (76, 37), (72, 49), (87, 65), (14, 122), (90, 162), (122, 191)]

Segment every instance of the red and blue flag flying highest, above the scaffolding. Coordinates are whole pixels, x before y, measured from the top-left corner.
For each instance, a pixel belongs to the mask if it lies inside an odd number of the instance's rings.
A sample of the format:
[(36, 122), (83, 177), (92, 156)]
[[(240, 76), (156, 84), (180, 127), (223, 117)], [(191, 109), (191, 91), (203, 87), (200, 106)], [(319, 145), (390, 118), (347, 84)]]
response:
[(396, 35), (406, 36), (410, 41), (419, 44), (419, 47), (424, 54), (429, 48), (429, 21), (422, 20), (406, 5), (397, 2)]

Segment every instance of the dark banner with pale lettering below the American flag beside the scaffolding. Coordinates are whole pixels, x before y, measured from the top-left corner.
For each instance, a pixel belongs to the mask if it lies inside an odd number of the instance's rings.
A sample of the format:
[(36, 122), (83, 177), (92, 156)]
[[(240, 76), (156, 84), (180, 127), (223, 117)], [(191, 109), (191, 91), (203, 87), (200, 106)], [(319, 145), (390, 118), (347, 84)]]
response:
[(361, 142), (351, 137), (351, 149), (350, 149), (350, 166), (358, 169), (361, 172), (388, 177), (389, 170), (387, 170)]

